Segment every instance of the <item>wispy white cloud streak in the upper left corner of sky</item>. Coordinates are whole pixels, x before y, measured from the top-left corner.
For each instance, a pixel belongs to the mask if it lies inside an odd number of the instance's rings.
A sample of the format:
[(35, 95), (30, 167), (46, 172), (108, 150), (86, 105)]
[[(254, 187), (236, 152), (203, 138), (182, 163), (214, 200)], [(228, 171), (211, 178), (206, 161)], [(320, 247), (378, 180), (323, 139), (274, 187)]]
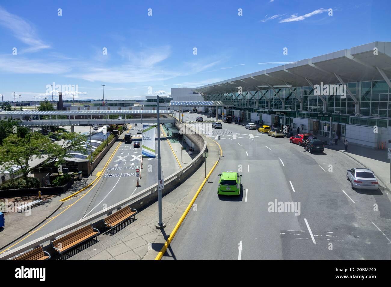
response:
[(41, 49), (50, 48), (49, 45), (43, 43), (36, 36), (32, 25), (27, 23), (23, 18), (9, 13), (2, 7), (0, 7), (0, 25), (11, 30), (14, 37), (29, 45), (29, 48), (22, 50), (22, 52), (37, 52)]

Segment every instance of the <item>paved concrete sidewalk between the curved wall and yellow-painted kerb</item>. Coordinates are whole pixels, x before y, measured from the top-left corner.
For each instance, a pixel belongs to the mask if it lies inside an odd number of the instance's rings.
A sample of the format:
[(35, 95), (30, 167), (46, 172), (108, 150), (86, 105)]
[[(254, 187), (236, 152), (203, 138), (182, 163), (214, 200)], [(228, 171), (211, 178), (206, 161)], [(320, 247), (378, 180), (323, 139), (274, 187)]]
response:
[[(212, 139), (205, 136), (203, 138), (208, 146), (208, 159), (206, 160), (208, 173), (219, 159), (218, 146)], [(129, 219), (117, 227), (113, 235), (111, 233), (100, 234), (98, 242), (86, 242), (74, 250), (70, 256), (64, 256), (64, 259), (155, 259), (204, 178), (203, 164), (190, 178), (163, 197), (162, 214), (163, 222), (166, 223), (163, 230), (158, 230), (155, 227), (158, 222), (158, 202), (155, 202), (136, 214), (136, 220)]]

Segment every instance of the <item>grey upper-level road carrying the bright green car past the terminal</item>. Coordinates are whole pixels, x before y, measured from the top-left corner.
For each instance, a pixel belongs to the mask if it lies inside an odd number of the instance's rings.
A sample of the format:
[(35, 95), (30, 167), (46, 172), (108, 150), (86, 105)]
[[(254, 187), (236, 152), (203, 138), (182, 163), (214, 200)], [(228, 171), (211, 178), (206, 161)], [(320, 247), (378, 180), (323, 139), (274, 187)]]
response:
[[(232, 123), (209, 134), (217, 135), (223, 157), (163, 259), (391, 258), (389, 195), (352, 190), (346, 170), (359, 164), (350, 157), (327, 148), (310, 154), (288, 138)], [(217, 196), (222, 171), (242, 175), (239, 197)], [(292, 202), (297, 212), (272, 212), (275, 201)]]

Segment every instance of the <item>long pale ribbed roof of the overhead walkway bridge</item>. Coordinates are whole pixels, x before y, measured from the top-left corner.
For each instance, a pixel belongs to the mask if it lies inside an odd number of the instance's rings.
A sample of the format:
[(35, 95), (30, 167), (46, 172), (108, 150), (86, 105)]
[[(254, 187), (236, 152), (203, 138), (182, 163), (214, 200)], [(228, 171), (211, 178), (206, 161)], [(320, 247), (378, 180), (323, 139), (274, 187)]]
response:
[[(0, 111), (0, 116), (48, 116), (48, 115), (89, 115), (89, 114), (156, 114), (156, 110), (115, 110), (115, 111)], [(171, 110), (160, 110), (160, 114), (172, 114)]]

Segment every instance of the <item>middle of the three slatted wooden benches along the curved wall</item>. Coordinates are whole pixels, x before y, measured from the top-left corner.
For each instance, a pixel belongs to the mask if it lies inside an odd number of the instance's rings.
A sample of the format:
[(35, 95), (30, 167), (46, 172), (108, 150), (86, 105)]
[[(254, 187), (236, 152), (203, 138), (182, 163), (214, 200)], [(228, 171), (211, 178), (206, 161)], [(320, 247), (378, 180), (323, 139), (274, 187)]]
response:
[(97, 230), (97, 228), (93, 228), (90, 224), (84, 226), (83, 228), (75, 230), (74, 232), (67, 234), (59, 239), (56, 239), (50, 242), (50, 244), (52, 244), (53, 248), (58, 251), (58, 253), (60, 253), (62, 259), (63, 252), (65, 252), (66, 250), (69, 250), (72, 247), (93, 237), (95, 237), (95, 240), (97, 241), (98, 235), (99, 230)]

